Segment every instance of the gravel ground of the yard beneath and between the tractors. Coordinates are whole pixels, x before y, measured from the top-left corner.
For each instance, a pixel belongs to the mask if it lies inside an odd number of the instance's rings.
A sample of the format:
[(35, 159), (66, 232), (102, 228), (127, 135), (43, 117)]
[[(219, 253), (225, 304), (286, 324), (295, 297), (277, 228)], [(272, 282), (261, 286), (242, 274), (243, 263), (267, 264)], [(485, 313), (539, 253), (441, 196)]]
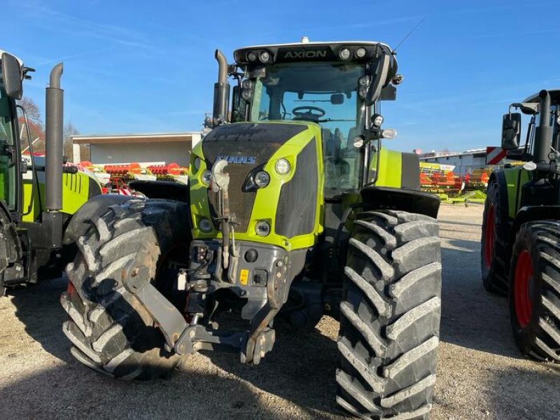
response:
[[(431, 419), (560, 419), (560, 365), (514, 346), (503, 297), (482, 288), (482, 207), (442, 206), (443, 307)], [(258, 366), (216, 353), (186, 358), (170, 380), (102, 377), (70, 356), (63, 280), (0, 300), (0, 419), (348, 419), (335, 404), (338, 324), (277, 335)]]

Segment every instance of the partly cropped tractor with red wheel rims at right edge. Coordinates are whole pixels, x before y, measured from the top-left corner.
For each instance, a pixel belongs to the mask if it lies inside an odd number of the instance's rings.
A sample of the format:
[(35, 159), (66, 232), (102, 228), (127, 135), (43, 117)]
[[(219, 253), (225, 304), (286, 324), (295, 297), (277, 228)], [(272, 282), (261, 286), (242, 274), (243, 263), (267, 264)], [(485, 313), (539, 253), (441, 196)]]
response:
[[(521, 113), (528, 116), (519, 148)], [(508, 294), (519, 349), (560, 363), (560, 90), (542, 90), (510, 105), (502, 148), (522, 165), (491, 174), (482, 224), (482, 280)]]

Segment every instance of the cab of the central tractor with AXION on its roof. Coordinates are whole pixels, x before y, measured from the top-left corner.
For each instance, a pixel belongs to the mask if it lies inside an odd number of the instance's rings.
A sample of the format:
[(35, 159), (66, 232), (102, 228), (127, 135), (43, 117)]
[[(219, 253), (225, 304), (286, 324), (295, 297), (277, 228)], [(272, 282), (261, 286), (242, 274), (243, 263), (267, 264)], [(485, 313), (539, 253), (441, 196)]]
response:
[[(265, 45), (236, 50), (232, 122), (311, 122), (321, 127), (325, 195), (365, 183), (364, 141), (379, 139), (377, 99), (395, 99), (397, 62), (374, 42)], [(373, 125), (372, 125), (373, 124)]]

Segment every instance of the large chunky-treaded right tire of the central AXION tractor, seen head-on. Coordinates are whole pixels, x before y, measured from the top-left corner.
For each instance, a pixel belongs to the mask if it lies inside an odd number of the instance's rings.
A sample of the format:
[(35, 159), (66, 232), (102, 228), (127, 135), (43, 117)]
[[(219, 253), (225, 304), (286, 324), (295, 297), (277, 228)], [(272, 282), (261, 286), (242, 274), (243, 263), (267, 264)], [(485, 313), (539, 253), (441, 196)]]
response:
[(427, 419), (440, 335), (437, 221), (358, 215), (340, 305), (337, 402), (362, 419)]

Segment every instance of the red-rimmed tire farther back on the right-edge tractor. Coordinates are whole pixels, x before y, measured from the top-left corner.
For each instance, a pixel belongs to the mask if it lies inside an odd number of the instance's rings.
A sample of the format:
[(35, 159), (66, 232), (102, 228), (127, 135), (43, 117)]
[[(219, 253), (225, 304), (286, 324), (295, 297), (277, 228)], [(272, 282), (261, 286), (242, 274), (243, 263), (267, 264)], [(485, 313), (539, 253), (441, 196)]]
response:
[(482, 284), (489, 292), (507, 295), (507, 213), (502, 207), (498, 181), (492, 180), (482, 216)]

